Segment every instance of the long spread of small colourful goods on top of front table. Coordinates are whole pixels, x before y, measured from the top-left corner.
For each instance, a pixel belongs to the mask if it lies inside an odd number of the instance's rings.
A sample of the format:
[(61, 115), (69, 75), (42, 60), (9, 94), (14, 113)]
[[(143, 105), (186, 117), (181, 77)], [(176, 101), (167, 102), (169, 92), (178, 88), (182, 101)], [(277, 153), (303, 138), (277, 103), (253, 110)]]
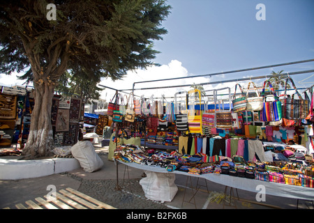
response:
[(243, 157), (234, 155), (211, 157), (203, 162), (204, 154), (182, 155), (173, 151), (144, 150), (140, 146), (120, 145), (114, 151), (115, 160), (157, 166), (167, 171), (185, 171), (188, 174), (225, 174), (274, 183), (299, 185), (314, 188), (314, 163), (307, 160), (298, 162), (246, 162)]

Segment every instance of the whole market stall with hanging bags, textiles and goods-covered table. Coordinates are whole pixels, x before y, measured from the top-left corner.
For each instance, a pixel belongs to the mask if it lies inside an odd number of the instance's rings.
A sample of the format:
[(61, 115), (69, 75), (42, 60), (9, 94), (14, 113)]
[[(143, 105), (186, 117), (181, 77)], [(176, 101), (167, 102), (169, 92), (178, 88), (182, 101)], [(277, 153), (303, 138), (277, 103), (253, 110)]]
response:
[[(130, 93), (130, 104), (117, 93), (108, 106), (115, 123), (112, 159), (147, 173), (195, 176), (251, 192), (264, 185), (267, 194), (313, 199), (313, 86), (301, 95), (286, 76), (281, 95), (269, 79), (257, 89), (250, 78), (247, 87), (235, 84), (233, 94), (230, 87), (211, 89), (214, 102), (197, 89), (180, 91), (172, 101)], [(219, 91), (227, 97), (218, 98)], [(123, 141), (135, 137), (132, 125), (142, 127), (135, 128), (141, 144)]]

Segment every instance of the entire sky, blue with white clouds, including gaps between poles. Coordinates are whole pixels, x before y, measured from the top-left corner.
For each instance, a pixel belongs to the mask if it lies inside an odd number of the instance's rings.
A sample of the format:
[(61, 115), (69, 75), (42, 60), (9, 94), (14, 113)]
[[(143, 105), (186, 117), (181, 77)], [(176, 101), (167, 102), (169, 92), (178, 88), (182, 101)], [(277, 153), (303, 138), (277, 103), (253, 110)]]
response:
[[(314, 59), (314, 1), (313, 0), (168, 0), (172, 10), (162, 26), (168, 33), (163, 40), (154, 42), (155, 63), (160, 67), (128, 72), (121, 81), (103, 79), (100, 84), (116, 89), (131, 89), (133, 82), (170, 77), (205, 75), (244, 68), (268, 66), (277, 63)], [(265, 6), (266, 20), (255, 15)], [(274, 68), (294, 72), (313, 70), (314, 62)], [(198, 84), (269, 75), (271, 68), (220, 75), (212, 78), (182, 79), (174, 82), (137, 84), (137, 87), (170, 86), (172, 84)], [(311, 77), (313, 75), (313, 77)], [(308, 79), (306, 79), (308, 78)], [(292, 76), (297, 87), (314, 84), (314, 73)], [(299, 84), (303, 79), (306, 83)], [(256, 81), (256, 84), (264, 79)], [(16, 79), (0, 74), (0, 84), (19, 84)], [(9, 84), (10, 83), (10, 84)], [(247, 82), (241, 82), (246, 87)], [(226, 84), (225, 84), (226, 85)], [(216, 84), (205, 89), (223, 87)], [(235, 83), (227, 84), (234, 89)], [(188, 89), (188, 88), (185, 88)], [(234, 91), (232, 89), (232, 92)], [(184, 89), (137, 91), (137, 95), (173, 95)], [(114, 91), (105, 90), (102, 98), (110, 100)]]

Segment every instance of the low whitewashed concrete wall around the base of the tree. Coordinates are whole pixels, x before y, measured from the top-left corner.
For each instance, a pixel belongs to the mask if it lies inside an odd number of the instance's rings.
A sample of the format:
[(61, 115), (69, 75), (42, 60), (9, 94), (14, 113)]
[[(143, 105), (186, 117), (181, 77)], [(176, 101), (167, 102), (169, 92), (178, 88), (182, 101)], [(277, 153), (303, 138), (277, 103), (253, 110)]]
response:
[(0, 180), (18, 180), (59, 174), (80, 168), (75, 158), (52, 158), (45, 160), (0, 159)]

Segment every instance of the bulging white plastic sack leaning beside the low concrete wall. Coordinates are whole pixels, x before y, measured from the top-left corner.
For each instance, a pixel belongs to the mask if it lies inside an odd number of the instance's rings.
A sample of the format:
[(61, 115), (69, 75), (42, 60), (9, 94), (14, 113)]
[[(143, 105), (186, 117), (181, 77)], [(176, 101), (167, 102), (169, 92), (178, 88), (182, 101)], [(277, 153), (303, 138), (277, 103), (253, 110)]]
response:
[(71, 153), (85, 172), (91, 173), (103, 167), (103, 160), (97, 155), (91, 141), (78, 141), (72, 146)]

